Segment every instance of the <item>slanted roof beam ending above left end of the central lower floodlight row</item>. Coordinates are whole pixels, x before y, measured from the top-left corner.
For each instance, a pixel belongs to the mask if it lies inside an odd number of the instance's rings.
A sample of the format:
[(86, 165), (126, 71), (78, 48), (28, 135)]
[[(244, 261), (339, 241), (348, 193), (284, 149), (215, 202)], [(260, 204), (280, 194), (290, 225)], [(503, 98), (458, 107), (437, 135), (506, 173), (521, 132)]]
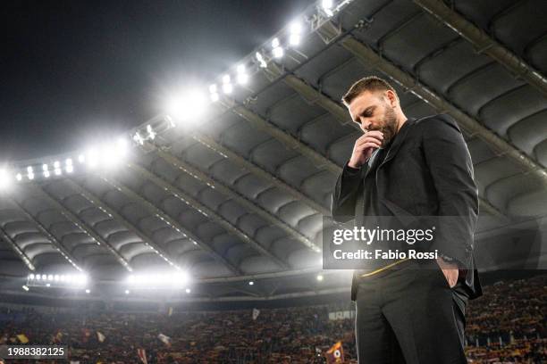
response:
[(132, 271), (133, 269), (130, 266), (129, 261), (127, 261), (120, 252), (116, 251), (114, 249), (114, 246), (109, 244), (103, 237), (99, 236), (93, 229), (93, 227), (90, 227), (88, 223), (86, 223), (84, 220), (80, 219), (78, 216), (76, 216), (72, 211), (69, 211), (66, 207), (63, 206), (63, 203), (59, 201), (53, 194), (48, 193), (44, 188), (38, 185), (29, 184), (28, 185), (30, 189), (32, 189), (37, 195), (39, 195), (41, 198), (47, 201), (47, 203), (52, 204), (55, 206), (55, 209), (58, 210), (65, 219), (68, 219), (72, 222), (76, 227), (78, 227), (81, 231), (83, 231), (85, 234), (93, 238), (99, 245), (105, 246), (105, 248), (111, 252), (114, 257), (116, 258), (116, 261), (118, 261), (120, 264), (122, 264), (124, 269), (127, 269), (128, 271)]

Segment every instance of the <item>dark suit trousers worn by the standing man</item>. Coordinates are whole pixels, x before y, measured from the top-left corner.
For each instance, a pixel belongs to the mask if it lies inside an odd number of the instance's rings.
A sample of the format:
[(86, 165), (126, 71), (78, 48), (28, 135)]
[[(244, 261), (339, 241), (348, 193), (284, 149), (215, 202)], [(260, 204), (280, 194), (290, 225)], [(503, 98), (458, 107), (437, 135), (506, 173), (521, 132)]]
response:
[[(396, 266), (397, 267), (397, 266)], [(436, 261), (405, 261), (358, 281), (359, 364), (466, 364), (467, 294)]]

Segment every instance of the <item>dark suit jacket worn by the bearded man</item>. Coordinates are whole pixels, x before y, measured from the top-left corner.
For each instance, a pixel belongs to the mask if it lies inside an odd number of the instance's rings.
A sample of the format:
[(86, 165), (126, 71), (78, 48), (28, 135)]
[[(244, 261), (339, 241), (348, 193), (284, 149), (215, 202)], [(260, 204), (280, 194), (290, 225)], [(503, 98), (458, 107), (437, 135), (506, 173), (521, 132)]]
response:
[[(437, 249), (467, 269), (466, 276), (460, 279), (465, 279), (469, 298), (478, 297), (482, 290), (473, 259), (478, 192), (466, 142), (458, 124), (448, 115), (409, 119), (407, 123), (377, 166), (375, 178), (365, 176), (374, 165), (377, 151), (361, 168), (359, 178), (349, 177), (348, 167), (344, 168), (332, 195), (332, 218), (340, 222), (355, 218), (358, 223), (364, 213), (359, 211), (362, 204), (358, 200), (363, 198), (366, 184), (374, 183), (374, 179), (381, 210), (377, 216), (457, 217), (450, 224), (450, 231), (436, 231), (432, 250)], [(343, 188), (342, 178), (346, 178)], [(356, 294), (354, 276), (352, 301)]]

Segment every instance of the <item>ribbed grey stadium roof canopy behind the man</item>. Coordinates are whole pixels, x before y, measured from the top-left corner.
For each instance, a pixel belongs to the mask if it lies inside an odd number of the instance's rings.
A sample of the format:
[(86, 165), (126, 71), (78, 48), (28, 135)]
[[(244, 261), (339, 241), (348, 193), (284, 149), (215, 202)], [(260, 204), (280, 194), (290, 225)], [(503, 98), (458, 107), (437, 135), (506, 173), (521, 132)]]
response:
[(86, 272), (90, 295), (127, 300), (126, 277), (177, 269), (191, 275), (191, 294), (131, 289), (130, 299), (347, 294), (348, 272), (322, 272), (321, 232), (360, 134), (341, 95), (368, 75), (392, 81), (408, 116), (459, 122), (480, 192), (479, 265), (544, 266), (547, 3), (323, 3), (295, 19), (299, 33), (287, 26), (241, 60), (246, 85), (234, 65), (230, 80), (205, 87), (215, 101), (203, 119), (159, 116), (130, 130), (139, 137), (115, 167), (116, 148), (5, 171), (21, 181), (0, 200), (3, 296), (88, 299), (55, 279), (21, 290), (31, 273)]

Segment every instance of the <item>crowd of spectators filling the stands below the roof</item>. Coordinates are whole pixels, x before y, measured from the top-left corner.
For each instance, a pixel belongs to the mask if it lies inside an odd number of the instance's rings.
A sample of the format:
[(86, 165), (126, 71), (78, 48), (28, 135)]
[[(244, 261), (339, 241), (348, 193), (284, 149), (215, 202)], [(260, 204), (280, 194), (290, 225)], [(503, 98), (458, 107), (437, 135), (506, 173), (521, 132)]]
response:
[[(80, 364), (139, 363), (139, 348), (149, 364), (299, 364), (324, 363), (324, 352), (341, 341), (346, 362), (356, 363), (353, 318), (329, 318), (350, 307), (261, 309), (256, 318), (251, 310), (170, 314), (4, 307), (0, 344), (21, 343), (22, 334), (28, 344), (67, 345), (69, 360)], [(484, 296), (468, 305), (469, 362), (547, 363), (545, 312), (547, 276), (484, 287)]]

